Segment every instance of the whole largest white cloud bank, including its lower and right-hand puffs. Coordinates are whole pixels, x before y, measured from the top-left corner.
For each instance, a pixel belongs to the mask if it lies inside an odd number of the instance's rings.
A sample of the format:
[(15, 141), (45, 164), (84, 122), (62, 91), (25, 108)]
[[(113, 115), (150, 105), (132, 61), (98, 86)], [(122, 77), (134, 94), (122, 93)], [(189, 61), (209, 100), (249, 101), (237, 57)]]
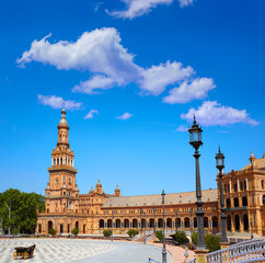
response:
[(166, 103), (185, 103), (193, 99), (204, 99), (214, 89), (211, 79), (194, 79), (191, 66), (169, 60), (165, 64), (143, 69), (134, 62), (134, 56), (120, 44), (118, 32), (101, 28), (84, 32), (76, 42), (50, 43), (45, 36), (33, 41), (30, 50), (16, 61), (24, 66), (32, 61), (55, 66), (58, 70), (85, 71), (90, 77), (72, 89), (73, 92), (99, 94), (114, 87), (135, 83), (140, 93), (159, 95), (170, 85), (180, 85), (164, 98)]

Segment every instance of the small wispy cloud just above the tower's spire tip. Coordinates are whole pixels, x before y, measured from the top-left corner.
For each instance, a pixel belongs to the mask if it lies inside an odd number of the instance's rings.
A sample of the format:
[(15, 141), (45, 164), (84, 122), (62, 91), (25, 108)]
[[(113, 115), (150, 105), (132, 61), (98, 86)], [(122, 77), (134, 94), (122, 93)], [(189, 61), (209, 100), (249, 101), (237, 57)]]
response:
[(61, 96), (56, 95), (37, 95), (38, 103), (48, 105), (53, 108), (62, 108), (64, 102), (66, 110), (78, 111), (82, 108), (82, 102), (64, 101)]

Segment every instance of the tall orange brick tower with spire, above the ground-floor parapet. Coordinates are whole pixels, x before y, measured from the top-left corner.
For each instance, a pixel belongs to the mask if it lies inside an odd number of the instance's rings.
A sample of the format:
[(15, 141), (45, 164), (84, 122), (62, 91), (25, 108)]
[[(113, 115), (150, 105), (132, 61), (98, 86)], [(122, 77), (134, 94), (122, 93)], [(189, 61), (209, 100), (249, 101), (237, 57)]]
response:
[(58, 141), (51, 152), (51, 167), (48, 168), (49, 183), (46, 193), (46, 213), (79, 213), (79, 190), (76, 183), (74, 155), (68, 141), (69, 125), (65, 107), (57, 126)]

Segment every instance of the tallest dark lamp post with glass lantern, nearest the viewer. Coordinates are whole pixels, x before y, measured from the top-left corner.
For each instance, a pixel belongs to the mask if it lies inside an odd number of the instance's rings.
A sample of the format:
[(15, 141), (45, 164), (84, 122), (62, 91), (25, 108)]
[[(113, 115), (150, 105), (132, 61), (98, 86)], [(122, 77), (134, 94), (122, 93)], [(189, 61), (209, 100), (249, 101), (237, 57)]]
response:
[(200, 186), (200, 174), (199, 174), (199, 152), (198, 148), (203, 145), (201, 133), (203, 129), (196, 123), (195, 116), (192, 128), (188, 129), (189, 133), (189, 145), (195, 149), (194, 158), (196, 163), (196, 197), (195, 202), (197, 210), (195, 211), (197, 216), (197, 229), (198, 229), (198, 244), (197, 250), (206, 250), (205, 235), (204, 235), (204, 211), (203, 211), (203, 201), (201, 201), (201, 186)]

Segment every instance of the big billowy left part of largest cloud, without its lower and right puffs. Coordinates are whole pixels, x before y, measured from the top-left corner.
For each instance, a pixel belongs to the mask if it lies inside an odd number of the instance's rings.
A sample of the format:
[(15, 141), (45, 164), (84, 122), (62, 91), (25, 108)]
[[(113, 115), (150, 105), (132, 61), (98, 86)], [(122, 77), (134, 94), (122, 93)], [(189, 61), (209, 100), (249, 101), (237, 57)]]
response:
[(19, 65), (31, 61), (49, 64), (57, 69), (76, 69), (101, 73), (112, 78), (118, 85), (139, 78), (141, 69), (134, 64), (134, 56), (119, 43), (120, 37), (113, 27), (84, 32), (77, 42), (48, 42), (48, 36), (34, 41), (31, 49), (18, 59)]

